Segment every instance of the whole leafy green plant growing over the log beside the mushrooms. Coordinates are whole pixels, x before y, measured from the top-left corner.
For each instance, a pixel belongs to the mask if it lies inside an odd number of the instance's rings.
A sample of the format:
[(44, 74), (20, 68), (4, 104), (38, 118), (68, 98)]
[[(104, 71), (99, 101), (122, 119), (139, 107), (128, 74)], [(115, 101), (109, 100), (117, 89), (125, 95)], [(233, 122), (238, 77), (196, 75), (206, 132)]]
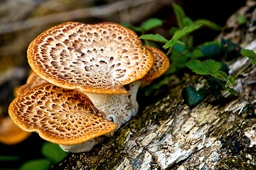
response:
[[(183, 89), (181, 95), (188, 106), (196, 106), (197, 103), (201, 102), (209, 94), (212, 94), (218, 100), (223, 99), (224, 97), (220, 94), (220, 90), (229, 91), (230, 94), (233, 95), (236, 94), (233, 85), (238, 75), (229, 75), (228, 66), (225, 62), (222, 62), (222, 60), (228, 60), (228, 56), (237, 57), (245, 55), (252, 60), (252, 62), (247, 65), (249, 66), (251, 63), (255, 64), (255, 53), (250, 50), (244, 50), (238, 45), (224, 39), (220, 42), (211, 41), (194, 46), (193, 31), (200, 29), (202, 26), (213, 30), (221, 30), (220, 26), (206, 19), (192, 21), (191, 18), (186, 16), (181, 6), (175, 3), (173, 3), (172, 6), (176, 15), (177, 27), (169, 29), (171, 38), (165, 38), (158, 33), (146, 34), (151, 29), (162, 26), (164, 21), (157, 18), (150, 18), (138, 27), (129, 25), (129, 28), (142, 34), (139, 38), (144, 40), (146, 45), (149, 45), (151, 42), (157, 42), (160, 45), (164, 44), (161, 45), (160, 48), (166, 50), (166, 55), (169, 56), (171, 61), (171, 65), (165, 77), (161, 79), (161, 81), (158, 81), (157, 84), (149, 86), (149, 88), (146, 89), (145, 95), (148, 96), (154, 89), (159, 89), (160, 86), (169, 84), (172, 79), (171, 74), (186, 68), (191, 69), (191, 71), (196, 74), (208, 77), (208, 89), (201, 88), (196, 90), (191, 85)], [(240, 21), (240, 23), (244, 23), (242, 18)], [(240, 72), (238, 74), (240, 74)]]

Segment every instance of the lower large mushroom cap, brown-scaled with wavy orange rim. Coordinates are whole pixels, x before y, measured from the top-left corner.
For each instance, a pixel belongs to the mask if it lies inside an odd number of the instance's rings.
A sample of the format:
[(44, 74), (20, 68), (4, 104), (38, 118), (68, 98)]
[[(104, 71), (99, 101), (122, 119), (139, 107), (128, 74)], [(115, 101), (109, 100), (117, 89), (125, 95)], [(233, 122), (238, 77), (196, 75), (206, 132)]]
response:
[(53, 84), (24, 91), (9, 106), (11, 119), (21, 129), (59, 145), (76, 145), (117, 128), (100, 114), (85, 94)]

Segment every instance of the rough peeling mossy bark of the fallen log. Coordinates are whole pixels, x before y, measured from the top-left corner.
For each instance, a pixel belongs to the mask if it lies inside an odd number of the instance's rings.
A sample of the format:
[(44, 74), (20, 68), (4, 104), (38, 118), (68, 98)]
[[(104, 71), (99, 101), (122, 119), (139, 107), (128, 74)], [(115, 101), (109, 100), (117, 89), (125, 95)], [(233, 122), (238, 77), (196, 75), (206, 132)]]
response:
[[(225, 29), (230, 33), (220, 37), (256, 50), (250, 25), (240, 28), (234, 21), (242, 14), (254, 22), (255, 7), (255, 1), (247, 1), (230, 17)], [(238, 72), (247, 61), (242, 57), (231, 63), (230, 73)], [(234, 89), (240, 96), (223, 91), (225, 103), (216, 105), (208, 96), (190, 108), (183, 103), (182, 89), (188, 84), (206, 86), (206, 79), (188, 74), (182, 79), (174, 78), (174, 82), (157, 91), (156, 102), (141, 108), (110, 140), (92, 152), (68, 154), (52, 169), (256, 169), (254, 65), (236, 82)]]

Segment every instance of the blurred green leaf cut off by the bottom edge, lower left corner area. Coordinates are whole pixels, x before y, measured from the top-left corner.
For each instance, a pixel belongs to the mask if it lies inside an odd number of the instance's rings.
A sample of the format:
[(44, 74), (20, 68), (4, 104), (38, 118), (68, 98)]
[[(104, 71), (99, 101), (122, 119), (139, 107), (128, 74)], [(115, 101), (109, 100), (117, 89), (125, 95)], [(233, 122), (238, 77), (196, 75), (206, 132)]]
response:
[(35, 159), (22, 164), (19, 170), (48, 170), (50, 166), (51, 163), (47, 159)]

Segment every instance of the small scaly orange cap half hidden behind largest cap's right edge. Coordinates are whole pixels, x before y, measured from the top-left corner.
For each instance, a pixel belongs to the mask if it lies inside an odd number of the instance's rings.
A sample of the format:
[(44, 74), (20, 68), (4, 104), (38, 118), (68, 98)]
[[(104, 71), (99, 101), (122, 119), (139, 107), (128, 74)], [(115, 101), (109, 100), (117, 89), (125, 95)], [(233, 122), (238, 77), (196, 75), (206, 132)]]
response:
[(145, 46), (151, 52), (154, 54), (154, 65), (151, 67), (149, 72), (146, 74), (146, 76), (142, 79), (142, 81), (152, 81), (158, 77), (160, 77), (164, 72), (169, 69), (170, 66), (170, 61), (169, 58), (156, 47), (151, 47), (151, 46)]

